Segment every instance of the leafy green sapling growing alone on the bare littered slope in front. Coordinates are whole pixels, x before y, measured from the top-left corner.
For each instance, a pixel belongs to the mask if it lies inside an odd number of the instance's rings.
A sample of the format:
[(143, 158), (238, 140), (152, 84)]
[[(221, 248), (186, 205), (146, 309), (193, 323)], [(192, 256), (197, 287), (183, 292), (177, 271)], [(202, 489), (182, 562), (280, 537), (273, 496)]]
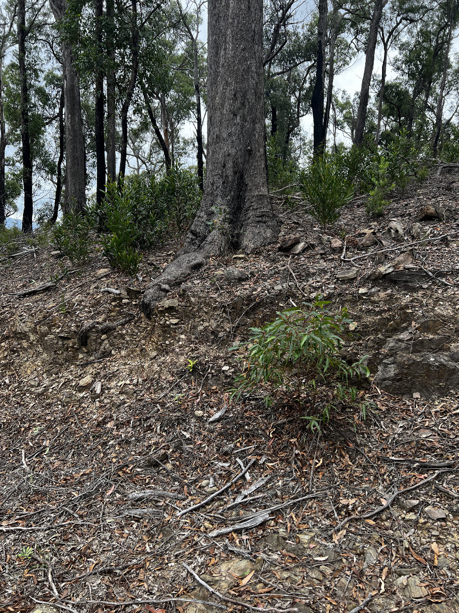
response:
[(317, 300), (277, 313), (275, 321), (261, 328), (251, 328), (252, 334), (239, 351), (243, 364), (241, 374), (234, 379), (232, 398), (247, 392), (260, 391), (266, 405), (277, 399), (294, 402), (306, 411), (310, 427), (320, 428), (328, 421), (335, 403), (365, 403), (351, 379), (368, 377), (365, 357), (348, 365), (340, 355), (341, 335), (351, 322), (346, 311), (332, 313), (328, 302)]

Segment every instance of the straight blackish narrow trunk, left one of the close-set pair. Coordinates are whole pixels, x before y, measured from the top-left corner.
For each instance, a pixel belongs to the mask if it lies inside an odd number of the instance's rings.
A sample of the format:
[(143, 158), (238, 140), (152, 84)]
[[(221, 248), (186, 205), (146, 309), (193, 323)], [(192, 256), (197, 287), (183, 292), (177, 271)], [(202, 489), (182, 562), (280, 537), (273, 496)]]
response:
[(95, 45), (97, 66), (95, 69), (95, 202), (99, 208), (105, 191), (105, 142), (103, 135), (103, 69), (102, 69), (102, 15), (103, 0), (95, 0)]

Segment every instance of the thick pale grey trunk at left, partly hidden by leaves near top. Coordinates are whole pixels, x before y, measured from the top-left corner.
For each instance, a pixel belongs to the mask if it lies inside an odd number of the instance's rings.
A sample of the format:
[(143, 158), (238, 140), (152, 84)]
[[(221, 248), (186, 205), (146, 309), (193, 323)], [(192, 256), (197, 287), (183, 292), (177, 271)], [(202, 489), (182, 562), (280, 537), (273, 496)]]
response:
[[(67, 10), (67, 1), (50, 0), (50, 6), (59, 24)], [(68, 42), (62, 42), (62, 71), (65, 100), (65, 199), (62, 212), (66, 214), (84, 211), (86, 205), (86, 154), (80, 82)]]

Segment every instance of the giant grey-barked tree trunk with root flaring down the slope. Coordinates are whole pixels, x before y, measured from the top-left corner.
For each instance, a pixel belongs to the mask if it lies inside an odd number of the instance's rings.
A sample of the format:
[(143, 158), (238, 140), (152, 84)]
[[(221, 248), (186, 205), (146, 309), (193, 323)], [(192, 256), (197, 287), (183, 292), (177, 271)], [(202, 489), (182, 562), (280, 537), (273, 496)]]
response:
[(200, 210), (184, 248), (147, 289), (151, 316), (164, 284), (179, 283), (211, 254), (250, 253), (275, 240), (267, 186), (263, 0), (209, 0), (207, 168)]

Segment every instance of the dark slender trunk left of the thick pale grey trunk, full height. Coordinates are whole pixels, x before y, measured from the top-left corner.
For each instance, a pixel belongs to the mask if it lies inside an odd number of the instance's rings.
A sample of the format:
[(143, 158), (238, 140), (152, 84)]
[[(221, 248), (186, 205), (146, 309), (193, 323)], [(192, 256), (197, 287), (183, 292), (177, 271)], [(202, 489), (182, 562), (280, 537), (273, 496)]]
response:
[(21, 83), (21, 140), (24, 185), (22, 231), (32, 232), (34, 202), (32, 199), (32, 154), (29, 135), (29, 92), (26, 74), (26, 2), (18, 1), (18, 63)]

